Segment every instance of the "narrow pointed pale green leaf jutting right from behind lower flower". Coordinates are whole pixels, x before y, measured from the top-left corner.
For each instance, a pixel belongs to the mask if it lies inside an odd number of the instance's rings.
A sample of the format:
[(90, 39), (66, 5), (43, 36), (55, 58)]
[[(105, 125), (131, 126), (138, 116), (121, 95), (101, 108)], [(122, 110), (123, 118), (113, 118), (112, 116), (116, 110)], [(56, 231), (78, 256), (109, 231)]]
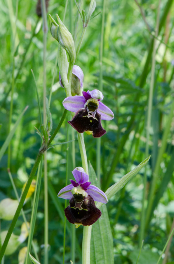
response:
[[(116, 194), (117, 192), (119, 192), (119, 190), (121, 190), (124, 185), (133, 177), (135, 176), (149, 161), (149, 157), (147, 157), (145, 160), (143, 160), (138, 166), (136, 166), (133, 170), (131, 170), (130, 172), (128, 172), (126, 175), (124, 175), (118, 182), (116, 182), (115, 184), (113, 184), (111, 187), (109, 187), (107, 189), (107, 191), (105, 192), (107, 199), (111, 199), (111, 197)], [(96, 203), (96, 207), (100, 208), (100, 206), (102, 206), (102, 203), (97, 202)]]

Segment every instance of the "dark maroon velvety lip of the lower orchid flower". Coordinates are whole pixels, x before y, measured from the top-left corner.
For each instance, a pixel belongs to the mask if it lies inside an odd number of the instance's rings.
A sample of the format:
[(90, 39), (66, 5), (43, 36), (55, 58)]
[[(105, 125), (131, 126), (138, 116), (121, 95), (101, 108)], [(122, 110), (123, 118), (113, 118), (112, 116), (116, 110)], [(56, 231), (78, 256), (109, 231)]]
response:
[(90, 226), (101, 216), (101, 211), (95, 206), (93, 198), (88, 195), (74, 194), (65, 209), (65, 216), (72, 224), (78, 223), (83, 226)]

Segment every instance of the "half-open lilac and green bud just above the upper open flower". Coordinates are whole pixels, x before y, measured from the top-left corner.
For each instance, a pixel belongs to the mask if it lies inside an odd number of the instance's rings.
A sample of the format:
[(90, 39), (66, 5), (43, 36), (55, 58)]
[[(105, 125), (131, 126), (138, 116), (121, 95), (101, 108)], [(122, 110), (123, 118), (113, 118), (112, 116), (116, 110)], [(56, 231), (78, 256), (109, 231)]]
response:
[[(82, 69), (78, 65), (74, 65), (72, 69), (72, 79), (71, 79), (71, 93), (72, 95), (79, 94), (80, 89), (83, 87), (84, 74)], [(59, 83), (60, 86), (64, 88), (62, 78), (59, 72)]]

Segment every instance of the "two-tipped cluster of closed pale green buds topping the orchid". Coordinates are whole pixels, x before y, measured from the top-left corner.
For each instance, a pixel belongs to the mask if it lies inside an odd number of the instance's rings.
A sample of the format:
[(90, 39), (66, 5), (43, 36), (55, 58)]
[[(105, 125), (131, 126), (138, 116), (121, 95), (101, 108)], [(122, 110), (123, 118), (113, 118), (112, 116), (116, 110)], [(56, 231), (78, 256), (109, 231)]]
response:
[(76, 59), (76, 51), (73, 37), (60, 20), (58, 14), (56, 14), (56, 17), (58, 20), (58, 24), (55, 22), (52, 16), (49, 15), (51, 35), (59, 42), (62, 48), (67, 51), (67, 53), (69, 54), (70, 61), (73, 63)]

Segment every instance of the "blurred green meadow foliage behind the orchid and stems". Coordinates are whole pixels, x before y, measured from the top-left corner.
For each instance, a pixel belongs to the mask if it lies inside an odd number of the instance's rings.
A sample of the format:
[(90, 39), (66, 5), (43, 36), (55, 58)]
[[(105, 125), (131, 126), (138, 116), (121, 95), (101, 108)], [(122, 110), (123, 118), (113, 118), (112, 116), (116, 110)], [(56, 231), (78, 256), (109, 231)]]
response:
[[(71, 1), (71, 0), (70, 0)], [(82, 3), (81, 3), (82, 2)], [(163, 21), (157, 41), (155, 82), (152, 106), (152, 127), (150, 130), (149, 154), (151, 159), (147, 165), (148, 182), (146, 196), (152, 183), (152, 174), (156, 166), (161, 139), (164, 135), (170, 109), (173, 102), (173, 1), (168, 9), (167, 19)], [(90, 1), (78, 1), (81, 9), (88, 10)], [(102, 12), (102, 1), (96, 1), (94, 15)], [(161, 1), (160, 17), (165, 11), (168, 1)], [(13, 75), (13, 54), (15, 86), (13, 94), (12, 124), (15, 123), (19, 114), (28, 105), (22, 121), (18, 125), (15, 135), (11, 140), (11, 164), (10, 170), (20, 196), (22, 186), (32, 169), (40, 148), (40, 138), (35, 133), (39, 129), (39, 110), (36, 97), (36, 88), (31, 69), (36, 77), (39, 90), (40, 102), (42, 104), (43, 90), (43, 31), (42, 19), (36, 15), (36, 1), (19, 1), (18, 19), (16, 21), (17, 31), (15, 35), (15, 8), (16, 1), (0, 1), (0, 145), (8, 135), (8, 120), (11, 103), (11, 87)], [(147, 23), (153, 33), (156, 27), (156, 10), (158, 1), (139, 1), (140, 7), (145, 13)], [(72, 10), (71, 10), (72, 6)], [(55, 13), (63, 18), (65, 1), (50, 0), (48, 13), (55, 19)], [(72, 16), (71, 16), (72, 15)], [(84, 73), (84, 90), (98, 89), (99, 67), (100, 67), (100, 38), (101, 38), (102, 13), (93, 18), (86, 29), (85, 37), (79, 53), (77, 65)], [(37, 24), (37, 27), (36, 27)], [(77, 8), (72, 1), (68, 4), (65, 17), (65, 25), (74, 36), (77, 47), (82, 22)], [(32, 32), (36, 27), (36, 34)], [(31, 44), (29, 45), (30, 38)], [(106, 191), (107, 187), (117, 182), (128, 171), (132, 170), (143, 159), (145, 159), (146, 144), (146, 122), (147, 105), (149, 96), (149, 83), (151, 77), (151, 57), (148, 67), (145, 66), (149, 46), (153, 37), (146, 28), (142, 19), (140, 9), (132, 0), (109, 0), (105, 11), (105, 32), (103, 45), (103, 103), (114, 112), (112, 121), (102, 121), (107, 133), (101, 138), (101, 188)], [(161, 42), (159, 41), (161, 40)], [(27, 45), (29, 49), (26, 52)], [(14, 50), (14, 47), (16, 50)], [(58, 43), (48, 32), (46, 51), (46, 87), (47, 98), (51, 88), (53, 70), (57, 55)], [(23, 65), (20, 68), (21, 62)], [(20, 70), (19, 70), (20, 69)], [(143, 69), (147, 72), (142, 75)], [(19, 72), (18, 72), (19, 71)], [(53, 131), (58, 125), (64, 111), (62, 101), (65, 98), (65, 90), (59, 85), (58, 67), (53, 85), (50, 111), (53, 118)], [(71, 132), (67, 115), (54, 143), (67, 141), (67, 131)], [(132, 123), (130, 123), (132, 121)], [(151, 221), (145, 229), (144, 248), (139, 263), (156, 263), (163, 247), (168, 239), (168, 234), (174, 219), (174, 119), (170, 123), (170, 130), (166, 136), (166, 148), (160, 162), (159, 175), (155, 185), (155, 202), (151, 214)], [(75, 136), (76, 138), (76, 136)], [(124, 140), (125, 139), (125, 140)], [(71, 140), (71, 138), (69, 138)], [(96, 140), (84, 133), (86, 152), (94, 170), (96, 171)], [(123, 144), (124, 142), (124, 144)], [(81, 157), (77, 140), (76, 166), (81, 166)], [(65, 186), (67, 147), (71, 150), (72, 143), (57, 145), (47, 153), (48, 160), (48, 186), (53, 187), (55, 194)], [(118, 157), (116, 156), (118, 153)], [(68, 178), (72, 178), (71, 151), (69, 151)], [(7, 172), (7, 151), (0, 161), (0, 200), (10, 197), (16, 199)], [(142, 192), (145, 169), (107, 204), (109, 221), (114, 243), (114, 263), (136, 263), (139, 252), (138, 241), (140, 237), (140, 219), (142, 211)], [(49, 191), (49, 264), (62, 263), (63, 251), (63, 221), (55, 207), (51, 187)], [(52, 190), (52, 191), (51, 191)], [(43, 263), (44, 235), (44, 192), (43, 179), (39, 198), (39, 207), (34, 230), (34, 242), (37, 245), (39, 259)], [(58, 199), (56, 197), (56, 199)], [(31, 218), (31, 206), (33, 198), (23, 207), (27, 221)], [(59, 208), (63, 208), (65, 201), (60, 199)], [(14, 233), (20, 233), (23, 220), (20, 216), (15, 226)], [(1, 230), (8, 230), (10, 221), (1, 220)], [(67, 223), (71, 230), (71, 225)], [(82, 227), (76, 230), (76, 238), (79, 248), (76, 246), (76, 263), (81, 263)], [(26, 246), (25, 241), (19, 249)], [(5, 257), (6, 264), (18, 263), (18, 251)], [(32, 252), (31, 252), (32, 253)], [(66, 237), (65, 263), (71, 258), (71, 239)], [(168, 263), (174, 259), (174, 240), (170, 246)], [(156, 262), (155, 262), (156, 260)]]

